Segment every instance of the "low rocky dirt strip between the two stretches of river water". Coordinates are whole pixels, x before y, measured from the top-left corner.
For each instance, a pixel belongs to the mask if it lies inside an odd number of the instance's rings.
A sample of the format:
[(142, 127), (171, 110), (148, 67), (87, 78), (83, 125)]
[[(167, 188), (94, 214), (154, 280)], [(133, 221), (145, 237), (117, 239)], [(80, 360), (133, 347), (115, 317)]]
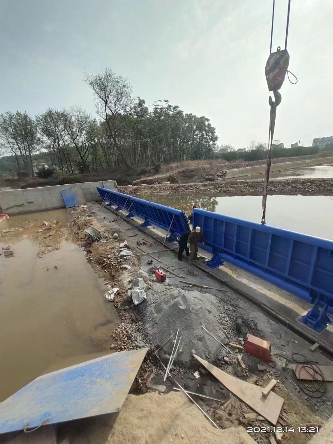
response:
[[(170, 183), (164, 185), (122, 186), (119, 188), (119, 191), (131, 195), (259, 196), (262, 194), (263, 183), (263, 179), (184, 184)], [(333, 196), (333, 178), (271, 180), (268, 186), (268, 194)]]

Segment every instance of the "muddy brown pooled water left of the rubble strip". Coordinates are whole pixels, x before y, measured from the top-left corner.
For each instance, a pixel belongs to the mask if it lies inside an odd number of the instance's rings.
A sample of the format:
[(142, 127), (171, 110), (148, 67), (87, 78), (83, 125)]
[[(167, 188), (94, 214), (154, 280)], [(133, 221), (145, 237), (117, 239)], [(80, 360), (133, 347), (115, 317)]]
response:
[[(36, 233), (36, 227), (50, 219), (59, 225), (44, 239), (48, 232)], [(104, 281), (71, 238), (67, 210), (12, 216), (0, 230), (27, 221), (35, 226), (0, 237), (0, 253), (8, 244), (14, 250), (12, 258), (0, 256), (0, 401), (47, 369), (109, 351), (118, 325), (103, 297)], [(38, 258), (45, 243), (59, 250)]]

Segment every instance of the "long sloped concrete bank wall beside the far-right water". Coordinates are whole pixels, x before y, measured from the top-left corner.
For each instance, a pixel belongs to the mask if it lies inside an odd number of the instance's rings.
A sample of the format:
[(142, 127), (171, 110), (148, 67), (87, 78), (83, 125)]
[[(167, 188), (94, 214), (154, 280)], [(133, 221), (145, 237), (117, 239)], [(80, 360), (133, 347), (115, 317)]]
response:
[[(271, 171), (290, 170), (292, 168), (302, 168), (304, 166), (325, 165), (332, 163), (333, 157), (322, 157), (321, 159), (299, 160), (297, 162), (272, 163)], [(249, 166), (247, 168), (237, 168), (236, 170), (226, 170), (226, 178), (250, 176), (253, 174), (262, 174), (266, 171), (266, 165)]]

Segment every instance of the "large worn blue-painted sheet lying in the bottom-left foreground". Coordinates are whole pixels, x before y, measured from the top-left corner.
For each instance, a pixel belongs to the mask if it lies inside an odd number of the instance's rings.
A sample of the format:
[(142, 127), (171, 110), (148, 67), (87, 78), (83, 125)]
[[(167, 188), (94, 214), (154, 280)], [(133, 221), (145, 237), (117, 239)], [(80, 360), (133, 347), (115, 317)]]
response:
[(118, 412), (146, 353), (112, 353), (38, 377), (0, 404), (0, 433)]

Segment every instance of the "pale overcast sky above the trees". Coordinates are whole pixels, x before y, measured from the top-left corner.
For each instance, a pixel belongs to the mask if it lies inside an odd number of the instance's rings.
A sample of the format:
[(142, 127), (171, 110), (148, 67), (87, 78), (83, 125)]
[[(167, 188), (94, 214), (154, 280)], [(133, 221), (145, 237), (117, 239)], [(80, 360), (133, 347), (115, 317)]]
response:
[[(205, 115), (218, 143), (267, 141), (265, 65), (271, 0), (0, 0), (0, 113), (81, 105), (84, 71), (111, 67), (151, 105)], [(287, 0), (276, 0), (273, 48), (284, 48)], [(333, 0), (291, 0), (289, 70), (275, 139), (333, 135)], [(306, 143), (305, 143), (306, 145)]]

